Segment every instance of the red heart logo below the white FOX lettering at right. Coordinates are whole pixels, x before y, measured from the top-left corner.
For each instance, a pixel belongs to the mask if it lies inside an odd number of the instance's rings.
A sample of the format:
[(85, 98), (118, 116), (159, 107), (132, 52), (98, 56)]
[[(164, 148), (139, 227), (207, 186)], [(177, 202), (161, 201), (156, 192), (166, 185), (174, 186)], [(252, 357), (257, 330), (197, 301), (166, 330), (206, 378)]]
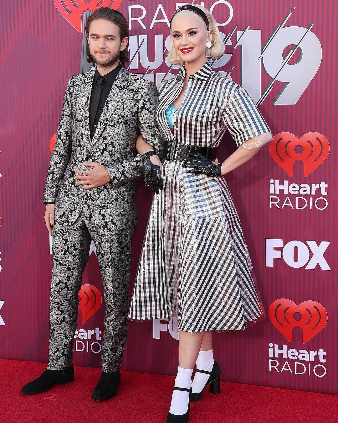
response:
[[(296, 318), (295, 313), (300, 314), (300, 319)], [(306, 343), (324, 328), (327, 312), (316, 301), (304, 301), (296, 305), (290, 299), (280, 298), (270, 305), (269, 319), (289, 342), (292, 342), (293, 328), (300, 327), (303, 331), (303, 343)]]

